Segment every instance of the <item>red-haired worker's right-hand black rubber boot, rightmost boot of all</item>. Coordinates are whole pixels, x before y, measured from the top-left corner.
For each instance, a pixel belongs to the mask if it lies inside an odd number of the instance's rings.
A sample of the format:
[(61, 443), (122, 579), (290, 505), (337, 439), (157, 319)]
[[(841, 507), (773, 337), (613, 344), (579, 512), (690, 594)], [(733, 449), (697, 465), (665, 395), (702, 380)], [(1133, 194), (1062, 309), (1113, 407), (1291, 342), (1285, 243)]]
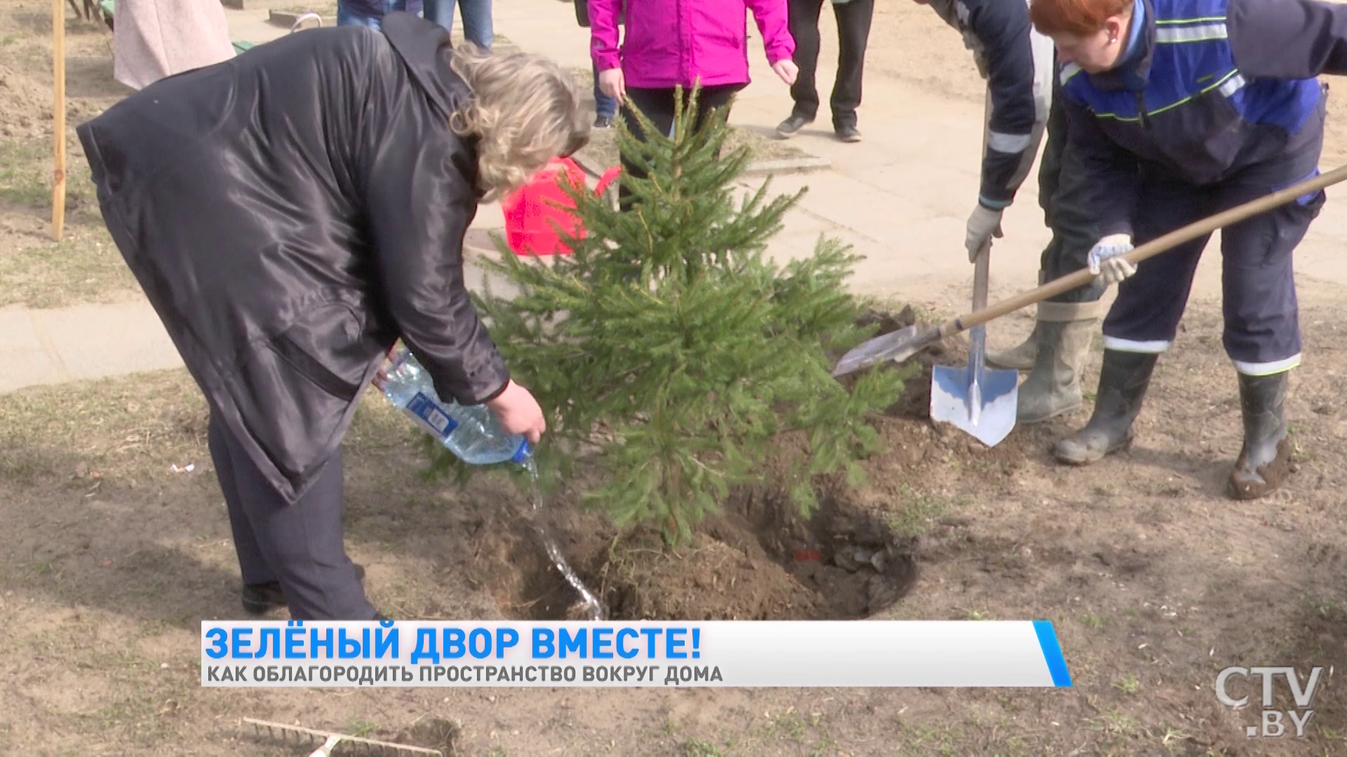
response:
[(1230, 473), (1228, 494), (1234, 500), (1257, 500), (1281, 486), (1290, 473), (1286, 377), (1285, 372), (1272, 376), (1239, 374), (1245, 446)]

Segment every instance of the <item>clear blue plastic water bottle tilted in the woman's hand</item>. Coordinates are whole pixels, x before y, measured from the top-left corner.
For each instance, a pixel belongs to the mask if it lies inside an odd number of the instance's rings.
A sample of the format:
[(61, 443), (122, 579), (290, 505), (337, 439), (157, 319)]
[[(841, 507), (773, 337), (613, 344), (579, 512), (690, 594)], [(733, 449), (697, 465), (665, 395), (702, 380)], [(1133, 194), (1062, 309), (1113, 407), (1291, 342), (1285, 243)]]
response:
[(532, 454), (528, 439), (501, 428), (489, 407), (442, 401), (430, 374), (407, 349), (393, 358), (374, 384), (389, 401), (463, 462), (492, 465), (509, 461), (524, 465)]

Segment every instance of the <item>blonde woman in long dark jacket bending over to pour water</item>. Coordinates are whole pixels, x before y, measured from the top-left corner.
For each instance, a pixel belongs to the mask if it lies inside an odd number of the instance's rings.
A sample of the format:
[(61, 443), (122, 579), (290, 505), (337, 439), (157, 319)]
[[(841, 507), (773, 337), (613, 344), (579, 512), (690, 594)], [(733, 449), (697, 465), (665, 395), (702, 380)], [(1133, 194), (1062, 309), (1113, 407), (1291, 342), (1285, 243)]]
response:
[(463, 286), (478, 202), (583, 144), (570, 75), (409, 13), (162, 79), (78, 128), (104, 220), (210, 405), (244, 607), (379, 617), (339, 445), (400, 337), (435, 389), (546, 430)]

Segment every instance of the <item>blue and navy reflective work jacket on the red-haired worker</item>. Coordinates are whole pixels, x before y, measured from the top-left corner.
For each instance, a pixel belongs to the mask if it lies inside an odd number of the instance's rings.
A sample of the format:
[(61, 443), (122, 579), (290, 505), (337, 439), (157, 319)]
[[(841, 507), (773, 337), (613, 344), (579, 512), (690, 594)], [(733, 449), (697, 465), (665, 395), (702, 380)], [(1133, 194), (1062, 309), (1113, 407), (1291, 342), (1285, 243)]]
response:
[(1321, 73), (1347, 71), (1347, 7), (1317, 0), (1137, 0), (1123, 63), (1063, 67), (1068, 133), (1100, 233), (1133, 233), (1144, 174), (1196, 186), (1321, 135)]

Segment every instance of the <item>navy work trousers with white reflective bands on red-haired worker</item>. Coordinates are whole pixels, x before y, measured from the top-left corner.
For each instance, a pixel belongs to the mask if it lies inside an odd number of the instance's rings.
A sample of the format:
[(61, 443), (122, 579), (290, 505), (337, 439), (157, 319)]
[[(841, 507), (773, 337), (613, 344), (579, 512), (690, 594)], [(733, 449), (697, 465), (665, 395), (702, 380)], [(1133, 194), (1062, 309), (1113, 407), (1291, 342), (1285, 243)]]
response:
[[(1313, 119), (1313, 117), (1312, 117)], [(1320, 128), (1317, 123), (1307, 129)], [(1212, 186), (1146, 172), (1137, 207), (1136, 244), (1237, 205), (1285, 189), (1317, 172), (1323, 132), (1308, 148), (1238, 171)], [(1222, 303), (1226, 353), (1239, 373), (1280, 373), (1300, 362), (1300, 323), (1292, 252), (1319, 216), (1317, 191), (1222, 229)], [(1137, 265), (1118, 287), (1103, 323), (1105, 346), (1160, 353), (1173, 343), (1192, 276), (1211, 236), (1162, 252)]]

